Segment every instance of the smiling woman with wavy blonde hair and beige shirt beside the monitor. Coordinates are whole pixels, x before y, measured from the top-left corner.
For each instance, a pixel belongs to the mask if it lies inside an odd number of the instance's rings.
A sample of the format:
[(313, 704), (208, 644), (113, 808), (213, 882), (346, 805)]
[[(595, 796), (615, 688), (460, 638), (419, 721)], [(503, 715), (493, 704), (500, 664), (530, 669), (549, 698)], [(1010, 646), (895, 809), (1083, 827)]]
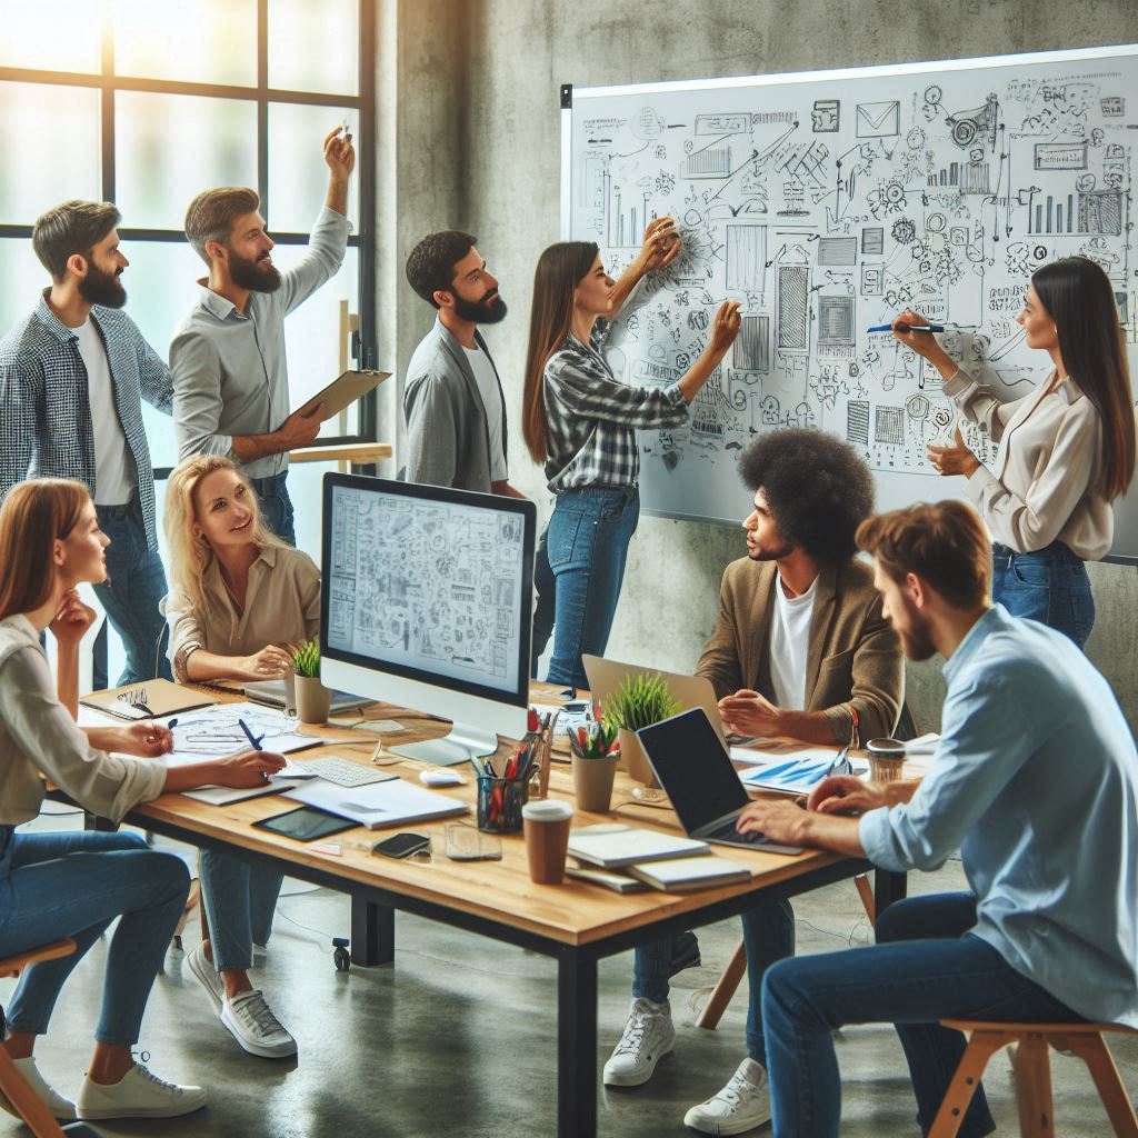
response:
[[(320, 570), (261, 517), (257, 495), (229, 459), (197, 455), (170, 478), (170, 655), (180, 682), (272, 679), (291, 668), (289, 644), (320, 628)], [(267, 941), (282, 875), (233, 853), (203, 850), (209, 935), (187, 957), (233, 1038), (282, 1058), (296, 1041), (249, 981), (253, 945)]]

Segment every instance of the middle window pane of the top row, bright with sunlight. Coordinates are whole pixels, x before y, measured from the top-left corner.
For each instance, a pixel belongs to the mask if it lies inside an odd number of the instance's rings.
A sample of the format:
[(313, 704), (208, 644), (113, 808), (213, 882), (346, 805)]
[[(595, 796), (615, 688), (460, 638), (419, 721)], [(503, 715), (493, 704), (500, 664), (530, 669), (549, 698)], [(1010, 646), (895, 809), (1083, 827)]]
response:
[(115, 0), (115, 72), (257, 85), (256, 0)]

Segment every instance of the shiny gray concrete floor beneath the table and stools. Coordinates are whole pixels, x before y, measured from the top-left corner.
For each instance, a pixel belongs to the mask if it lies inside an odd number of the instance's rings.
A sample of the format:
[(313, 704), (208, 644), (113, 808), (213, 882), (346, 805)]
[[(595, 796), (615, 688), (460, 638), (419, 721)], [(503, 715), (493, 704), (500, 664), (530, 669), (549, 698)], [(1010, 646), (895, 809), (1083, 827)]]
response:
[[(57, 818), (51, 825), (75, 822)], [(958, 863), (910, 879), (913, 891), (962, 887)], [(188, 971), (172, 970), (155, 986), (141, 1046), (159, 1074), (207, 1087), (209, 1105), (183, 1120), (100, 1123), (107, 1138), (533, 1138), (555, 1132), (556, 976), (551, 960), (399, 914), (394, 966), (338, 973), (329, 938), (347, 933), (347, 899), (292, 881), (283, 892), (269, 955), (254, 975), (296, 1036), (299, 1062), (247, 1055), (213, 1016)], [(832, 951), (868, 939), (850, 883), (801, 898), (795, 910), (801, 953)], [(197, 939), (196, 926), (191, 930), (187, 947)], [(686, 1108), (714, 1094), (735, 1069), (743, 1056), (745, 981), (716, 1032), (694, 1025), (690, 1001), (715, 982), (737, 938), (734, 921), (700, 932), (704, 966), (681, 973), (673, 987), (675, 1054), (644, 1087), (602, 1088), (602, 1136), (691, 1133), (683, 1125)], [(100, 943), (80, 964), (60, 997), (52, 1031), (38, 1048), (41, 1070), (65, 1094), (74, 1094), (89, 1055), (104, 958)], [(624, 1026), (629, 975), (629, 955), (601, 964), (599, 1067)], [(0, 1000), (11, 989), (11, 981), (0, 981)], [(1138, 1039), (1120, 1040), (1113, 1049), (1128, 1088), (1138, 1094)], [(838, 1053), (842, 1133), (916, 1135), (913, 1095), (892, 1030), (849, 1029), (838, 1040)], [(1056, 1132), (1110, 1135), (1081, 1063), (1053, 1055), (1052, 1067)], [(1006, 1056), (997, 1056), (989, 1071), (986, 1086), (999, 1132), (1015, 1135)], [(0, 1114), (0, 1135), (19, 1133), (27, 1130)], [(757, 1133), (769, 1135), (769, 1128)]]

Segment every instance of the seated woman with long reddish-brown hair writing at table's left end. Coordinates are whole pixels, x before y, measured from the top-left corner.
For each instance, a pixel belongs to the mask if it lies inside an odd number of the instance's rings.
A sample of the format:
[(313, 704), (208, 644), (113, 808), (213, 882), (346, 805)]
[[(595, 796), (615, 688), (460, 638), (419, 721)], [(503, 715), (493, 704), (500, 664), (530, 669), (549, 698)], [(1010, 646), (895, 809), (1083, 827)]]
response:
[[(182, 915), (184, 864), (147, 849), (138, 834), (17, 831), (40, 813), (41, 775), (117, 822), (159, 794), (211, 783), (256, 786), (284, 765), (279, 754), (246, 751), (167, 769), (152, 761), (171, 745), (158, 724), (85, 732), (75, 725), (79, 642), (94, 619), (75, 588), (107, 579), (109, 544), (80, 483), (32, 479), (11, 489), (0, 509), (0, 957), (60, 937), (77, 946), (73, 956), (24, 973), (0, 1046), (63, 1120), (171, 1118), (205, 1105), (206, 1092), (166, 1082), (131, 1055)], [(44, 629), (59, 645), (55, 685), (40, 646)], [(116, 917), (94, 1052), (73, 1105), (43, 1080), (32, 1052), (72, 970)], [(0, 1106), (8, 1108), (2, 1096)]]

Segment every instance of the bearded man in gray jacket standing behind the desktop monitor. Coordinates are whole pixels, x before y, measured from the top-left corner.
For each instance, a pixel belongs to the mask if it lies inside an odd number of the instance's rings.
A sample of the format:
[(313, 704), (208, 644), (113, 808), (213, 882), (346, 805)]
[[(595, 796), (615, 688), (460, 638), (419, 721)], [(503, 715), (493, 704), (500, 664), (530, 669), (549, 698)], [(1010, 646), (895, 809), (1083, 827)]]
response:
[[(505, 396), (479, 324), (505, 318), (497, 280), (459, 230), (424, 237), (407, 257), (411, 287), (438, 312), (407, 365), (403, 413), (407, 421), (409, 483), (453, 486), (525, 497), (510, 485)], [(534, 567), (531, 673), (553, 630), (554, 580), (542, 535)]]

